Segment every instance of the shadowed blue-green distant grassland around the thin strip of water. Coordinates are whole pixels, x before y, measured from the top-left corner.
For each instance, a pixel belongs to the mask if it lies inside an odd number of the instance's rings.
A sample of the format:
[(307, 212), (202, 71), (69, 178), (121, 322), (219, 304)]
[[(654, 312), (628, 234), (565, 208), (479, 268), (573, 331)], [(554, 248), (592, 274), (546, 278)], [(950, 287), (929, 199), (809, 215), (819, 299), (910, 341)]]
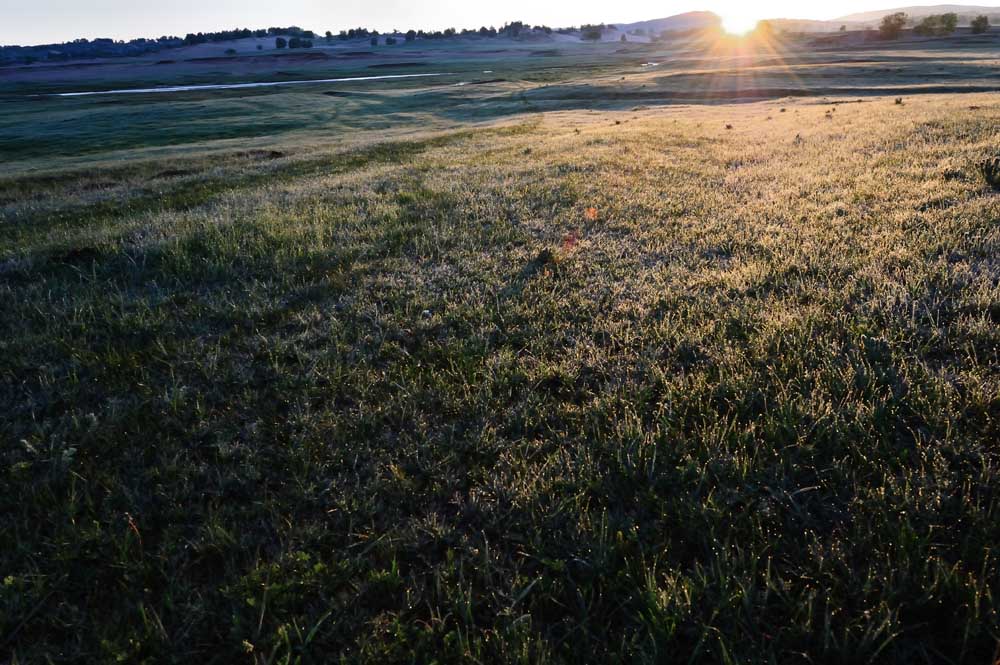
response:
[[(357, 50), (362, 49), (362, 50)], [(192, 55), (201, 55), (195, 51)], [(0, 68), (8, 173), (255, 149), (296, 153), (462, 130), (554, 111), (1000, 92), (1000, 31), (816, 49), (782, 44), (485, 40), (328, 52)], [(159, 64), (167, 62), (169, 64)], [(53, 93), (398, 74), (433, 79), (55, 98)]]

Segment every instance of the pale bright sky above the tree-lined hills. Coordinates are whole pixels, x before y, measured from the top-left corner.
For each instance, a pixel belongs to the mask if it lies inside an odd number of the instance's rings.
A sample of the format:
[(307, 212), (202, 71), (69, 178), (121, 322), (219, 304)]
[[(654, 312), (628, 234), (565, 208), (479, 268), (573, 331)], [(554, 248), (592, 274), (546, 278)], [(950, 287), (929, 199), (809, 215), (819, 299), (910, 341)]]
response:
[[(184, 36), (234, 27), (298, 25), (325, 32), (348, 27), (438, 30), (500, 26), (512, 20), (552, 27), (625, 23), (687, 11), (739, 20), (832, 19), (891, 5), (879, 0), (0, 0), (0, 44), (42, 44), (78, 37)], [(906, 3), (902, 3), (906, 4)], [(931, 4), (931, 3), (915, 3)], [(883, 7), (886, 5), (886, 7)]]

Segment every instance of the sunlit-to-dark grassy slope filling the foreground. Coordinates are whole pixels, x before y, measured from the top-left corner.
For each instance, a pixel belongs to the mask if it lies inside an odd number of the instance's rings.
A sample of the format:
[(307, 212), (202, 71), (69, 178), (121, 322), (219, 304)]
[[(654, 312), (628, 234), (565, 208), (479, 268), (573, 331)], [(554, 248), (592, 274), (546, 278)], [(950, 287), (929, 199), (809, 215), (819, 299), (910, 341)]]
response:
[(0, 659), (991, 663), (968, 99), (5, 182)]

